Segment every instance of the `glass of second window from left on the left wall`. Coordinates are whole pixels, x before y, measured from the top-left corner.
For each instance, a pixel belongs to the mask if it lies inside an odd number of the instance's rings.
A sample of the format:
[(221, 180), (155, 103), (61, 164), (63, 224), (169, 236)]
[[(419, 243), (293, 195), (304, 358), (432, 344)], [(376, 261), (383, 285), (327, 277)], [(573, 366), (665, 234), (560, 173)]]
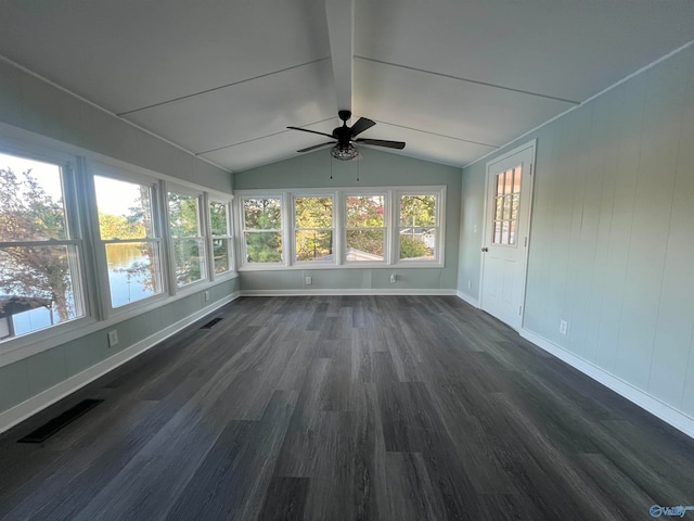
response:
[(111, 307), (162, 293), (162, 244), (154, 226), (154, 186), (94, 176), (94, 189)]

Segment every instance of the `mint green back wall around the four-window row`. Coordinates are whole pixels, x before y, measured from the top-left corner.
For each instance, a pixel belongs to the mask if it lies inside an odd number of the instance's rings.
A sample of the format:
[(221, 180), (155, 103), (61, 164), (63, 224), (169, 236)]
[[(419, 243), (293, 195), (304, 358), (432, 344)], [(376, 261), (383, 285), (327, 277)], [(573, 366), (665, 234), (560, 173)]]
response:
[[(361, 149), (360, 161), (332, 160), (327, 149), (234, 174), (234, 188), (447, 187), (445, 268), (345, 268), (244, 271), (242, 290), (455, 290), (460, 238), (461, 169), (402, 155)], [(331, 179), (331, 174), (333, 178)], [(357, 180), (359, 178), (359, 180)], [(397, 274), (398, 282), (389, 281)], [(304, 285), (304, 277), (313, 283)]]

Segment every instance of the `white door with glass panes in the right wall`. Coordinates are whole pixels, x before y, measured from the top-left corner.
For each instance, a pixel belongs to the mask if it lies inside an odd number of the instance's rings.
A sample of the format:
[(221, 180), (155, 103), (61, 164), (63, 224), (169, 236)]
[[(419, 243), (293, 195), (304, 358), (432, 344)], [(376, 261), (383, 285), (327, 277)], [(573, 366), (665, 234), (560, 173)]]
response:
[(480, 307), (512, 328), (523, 323), (535, 142), (487, 163)]

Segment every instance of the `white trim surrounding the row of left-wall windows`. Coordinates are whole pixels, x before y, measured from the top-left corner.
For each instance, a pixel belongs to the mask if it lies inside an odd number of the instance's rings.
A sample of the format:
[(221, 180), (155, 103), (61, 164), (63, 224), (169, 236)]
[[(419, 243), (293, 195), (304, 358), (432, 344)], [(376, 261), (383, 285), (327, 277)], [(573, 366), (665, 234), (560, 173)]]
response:
[[(79, 276), (83, 293), (85, 316), (74, 320), (59, 323), (46, 329), (36, 330), (30, 333), (4, 340), (0, 343), (0, 367), (25, 359), (29, 356), (51, 350), (57, 345), (83, 338), (85, 335), (103, 331), (115, 327), (123, 320), (127, 320), (142, 315), (163, 305), (171, 304), (180, 298), (187, 297), (190, 293), (195, 293), (205, 288), (214, 288), (224, 280), (239, 277), (237, 271), (228, 271), (219, 279), (203, 279), (183, 288), (178, 294), (170, 289), (170, 259), (166, 258), (169, 250), (168, 212), (166, 205), (165, 182), (171, 183), (179, 189), (195, 191), (197, 193), (209, 194), (214, 199), (233, 200), (233, 195), (226, 191), (210, 189), (182, 178), (169, 176), (164, 173), (144, 168), (131, 163), (124, 162), (107, 155), (83, 149), (74, 144), (59, 141), (53, 138), (41, 136), (29, 130), (21, 129), (12, 125), (0, 122), (0, 150), (11, 155), (24, 156), (30, 160), (44, 161), (48, 163), (68, 165), (66, 174), (74, 178), (69, 190), (65, 191), (65, 199), (73, 200), (73, 204), (66, 204), (66, 215), (70, 224), (72, 241), (81, 241), (79, 258)], [(163, 278), (164, 285), (168, 285), (168, 291), (158, 295), (137, 301), (126, 306), (117, 307), (113, 313), (105, 313), (107, 307), (104, 303), (106, 296), (99, 282), (98, 272), (100, 268), (98, 251), (100, 249), (99, 221), (97, 212), (97, 201), (93, 191), (92, 168), (94, 163), (100, 164), (102, 170), (117, 171), (124, 174), (124, 180), (132, 182), (151, 181), (157, 187), (156, 208), (154, 219), (159, 224), (159, 238), (163, 243)], [(102, 175), (105, 171), (102, 171)], [(202, 211), (202, 209), (201, 209)], [(233, 211), (233, 205), (232, 205)], [(201, 226), (206, 226), (208, 217), (203, 217)], [(233, 220), (233, 218), (232, 218)], [(235, 228), (232, 228), (234, 230)], [(207, 242), (205, 242), (207, 244)], [(235, 244), (234, 244), (235, 245)], [(235, 249), (232, 246), (232, 251)]]

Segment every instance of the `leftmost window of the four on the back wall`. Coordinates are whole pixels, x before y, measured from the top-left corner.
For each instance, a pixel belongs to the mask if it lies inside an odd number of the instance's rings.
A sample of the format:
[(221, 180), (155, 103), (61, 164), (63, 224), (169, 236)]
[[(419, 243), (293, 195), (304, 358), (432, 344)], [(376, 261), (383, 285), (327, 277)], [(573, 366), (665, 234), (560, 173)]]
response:
[(243, 199), (243, 240), (248, 264), (282, 262), (282, 199)]

